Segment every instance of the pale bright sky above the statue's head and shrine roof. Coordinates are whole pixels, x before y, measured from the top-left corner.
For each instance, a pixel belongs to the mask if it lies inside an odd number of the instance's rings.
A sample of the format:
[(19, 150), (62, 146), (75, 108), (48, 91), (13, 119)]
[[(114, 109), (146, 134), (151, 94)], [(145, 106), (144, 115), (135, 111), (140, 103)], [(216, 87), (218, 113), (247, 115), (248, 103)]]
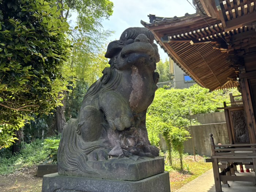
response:
[[(195, 9), (187, 0), (111, 0), (114, 3), (113, 15), (109, 20), (103, 20), (105, 30), (115, 31), (108, 42), (120, 38), (128, 27), (143, 27), (140, 20), (149, 23), (147, 15), (159, 17), (181, 17), (185, 13), (194, 14)], [(189, 0), (192, 4), (192, 0)], [(163, 49), (159, 48), (162, 60), (168, 58)]]

